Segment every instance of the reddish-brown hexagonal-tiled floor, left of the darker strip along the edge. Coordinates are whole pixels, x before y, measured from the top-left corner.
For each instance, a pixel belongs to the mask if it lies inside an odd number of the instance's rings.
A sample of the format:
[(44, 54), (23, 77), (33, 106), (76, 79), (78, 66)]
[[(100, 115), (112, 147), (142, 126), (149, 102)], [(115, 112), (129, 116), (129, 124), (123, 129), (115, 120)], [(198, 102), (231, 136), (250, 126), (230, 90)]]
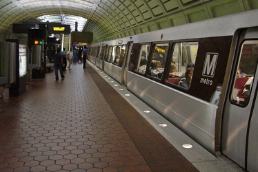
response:
[[(103, 98), (88, 72), (92, 68), (78, 63), (71, 68), (65, 80), (56, 81), (54, 71), (32, 80), (19, 97), (5, 90), (0, 171), (159, 171), (146, 163)], [(170, 171), (163, 167), (158, 168)], [(197, 171), (192, 164), (190, 169)]]

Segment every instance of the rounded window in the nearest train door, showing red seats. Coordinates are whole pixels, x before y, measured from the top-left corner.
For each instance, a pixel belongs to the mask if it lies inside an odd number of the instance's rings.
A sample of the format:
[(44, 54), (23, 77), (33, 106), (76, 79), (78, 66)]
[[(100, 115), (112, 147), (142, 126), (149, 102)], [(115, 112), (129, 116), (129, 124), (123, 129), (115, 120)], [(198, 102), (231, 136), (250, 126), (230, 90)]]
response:
[(258, 41), (244, 41), (235, 73), (235, 84), (231, 102), (240, 106), (248, 105), (258, 61)]

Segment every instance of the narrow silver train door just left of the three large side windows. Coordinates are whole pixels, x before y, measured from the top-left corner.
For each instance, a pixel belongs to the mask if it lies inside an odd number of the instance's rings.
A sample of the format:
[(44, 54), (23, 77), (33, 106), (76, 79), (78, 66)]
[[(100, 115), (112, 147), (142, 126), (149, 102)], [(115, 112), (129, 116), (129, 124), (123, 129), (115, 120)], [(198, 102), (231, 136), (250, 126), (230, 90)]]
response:
[(132, 42), (128, 42), (126, 44), (125, 59), (123, 61), (123, 68), (122, 68), (122, 84), (123, 85), (127, 85), (127, 71), (128, 71), (128, 63), (129, 63), (131, 50), (132, 50)]

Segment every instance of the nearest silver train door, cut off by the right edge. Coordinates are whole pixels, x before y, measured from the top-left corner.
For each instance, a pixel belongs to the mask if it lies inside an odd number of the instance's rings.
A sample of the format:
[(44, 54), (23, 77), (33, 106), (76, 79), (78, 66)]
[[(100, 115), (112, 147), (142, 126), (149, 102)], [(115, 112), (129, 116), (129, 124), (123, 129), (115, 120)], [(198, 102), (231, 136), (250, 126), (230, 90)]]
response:
[(258, 171), (258, 28), (241, 31), (221, 129), (221, 152), (248, 171)]

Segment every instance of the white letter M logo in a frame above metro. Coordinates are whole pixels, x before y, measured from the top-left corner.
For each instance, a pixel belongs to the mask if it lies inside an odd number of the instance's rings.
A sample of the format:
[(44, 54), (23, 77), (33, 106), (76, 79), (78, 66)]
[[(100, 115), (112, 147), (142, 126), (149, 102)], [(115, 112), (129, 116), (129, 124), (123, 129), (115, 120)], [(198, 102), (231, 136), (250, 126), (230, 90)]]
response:
[(206, 58), (204, 61), (204, 69), (202, 72), (203, 76), (208, 76), (210, 78), (213, 78), (215, 74), (218, 56), (219, 56), (218, 53), (212, 53), (212, 52), (206, 53)]

